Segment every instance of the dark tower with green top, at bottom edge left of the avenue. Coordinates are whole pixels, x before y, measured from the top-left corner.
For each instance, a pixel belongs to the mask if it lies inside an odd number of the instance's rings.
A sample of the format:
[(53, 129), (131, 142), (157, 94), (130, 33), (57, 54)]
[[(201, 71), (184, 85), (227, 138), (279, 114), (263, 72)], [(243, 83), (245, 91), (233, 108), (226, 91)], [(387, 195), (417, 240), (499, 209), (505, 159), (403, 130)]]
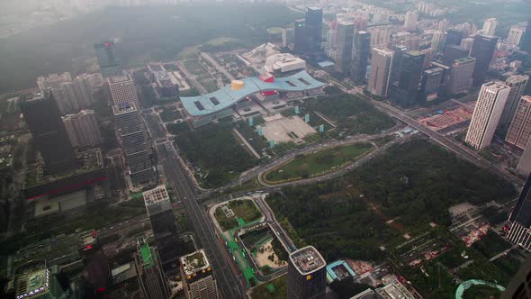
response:
[(160, 267), (157, 249), (150, 247), (148, 240), (137, 240), (135, 267), (144, 298), (169, 298), (166, 276)]

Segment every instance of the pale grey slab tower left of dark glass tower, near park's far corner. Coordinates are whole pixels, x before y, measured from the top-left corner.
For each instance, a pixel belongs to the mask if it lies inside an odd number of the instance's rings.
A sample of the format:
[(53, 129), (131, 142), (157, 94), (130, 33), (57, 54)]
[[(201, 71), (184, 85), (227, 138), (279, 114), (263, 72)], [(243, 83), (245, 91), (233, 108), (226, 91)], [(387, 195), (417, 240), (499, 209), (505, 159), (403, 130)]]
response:
[(392, 59), (394, 52), (387, 48), (373, 48), (371, 59), (371, 75), (368, 90), (373, 95), (387, 96), (391, 79)]

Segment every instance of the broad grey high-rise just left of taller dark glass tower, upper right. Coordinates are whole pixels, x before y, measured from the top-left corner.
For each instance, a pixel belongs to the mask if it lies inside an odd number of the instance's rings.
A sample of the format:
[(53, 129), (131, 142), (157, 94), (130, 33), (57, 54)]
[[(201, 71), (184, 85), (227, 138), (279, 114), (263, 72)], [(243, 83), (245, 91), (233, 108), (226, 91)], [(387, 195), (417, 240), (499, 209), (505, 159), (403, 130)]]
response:
[(450, 70), (450, 77), (446, 85), (446, 94), (456, 95), (470, 90), (473, 86), (473, 70), (476, 59), (465, 57), (455, 59)]

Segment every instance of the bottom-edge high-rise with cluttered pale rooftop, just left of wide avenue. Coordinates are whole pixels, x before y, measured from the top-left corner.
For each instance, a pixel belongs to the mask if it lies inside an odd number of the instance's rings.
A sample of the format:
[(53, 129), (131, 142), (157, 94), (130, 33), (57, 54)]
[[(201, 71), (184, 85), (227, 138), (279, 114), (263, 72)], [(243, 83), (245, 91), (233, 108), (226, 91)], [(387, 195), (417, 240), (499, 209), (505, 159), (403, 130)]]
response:
[(180, 264), (186, 299), (218, 299), (218, 285), (203, 249), (185, 255)]

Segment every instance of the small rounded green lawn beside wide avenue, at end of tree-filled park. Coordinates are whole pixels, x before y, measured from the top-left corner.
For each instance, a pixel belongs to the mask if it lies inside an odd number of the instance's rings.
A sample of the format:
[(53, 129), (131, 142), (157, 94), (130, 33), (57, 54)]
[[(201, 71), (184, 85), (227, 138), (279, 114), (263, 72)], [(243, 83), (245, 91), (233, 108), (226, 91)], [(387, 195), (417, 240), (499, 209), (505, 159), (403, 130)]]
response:
[(257, 205), (253, 201), (245, 200), (233, 200), (229, 202), (229, 209), (234, 213), (233, 217), (226, 217), (225, 213), (221, 209), (221, 206), (216, 209), (214, 217), (223, 231), (228, 231), (238, 226), (238, 218), (243, 219), (244, 222), (253, 222), (262, 217), (262, 213), (257, 208)]

